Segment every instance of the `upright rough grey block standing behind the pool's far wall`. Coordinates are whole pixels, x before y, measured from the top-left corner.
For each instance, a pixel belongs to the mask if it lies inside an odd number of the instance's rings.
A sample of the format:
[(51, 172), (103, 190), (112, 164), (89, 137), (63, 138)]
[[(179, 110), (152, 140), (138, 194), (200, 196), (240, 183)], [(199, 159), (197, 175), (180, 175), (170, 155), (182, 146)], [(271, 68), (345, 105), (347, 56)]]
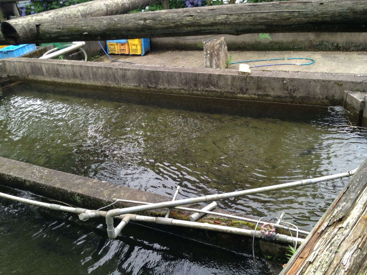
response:
[(208, 41), (204, 46), (204, 67), (225, 69), (228, 59), (227, 43), (224, 37)]

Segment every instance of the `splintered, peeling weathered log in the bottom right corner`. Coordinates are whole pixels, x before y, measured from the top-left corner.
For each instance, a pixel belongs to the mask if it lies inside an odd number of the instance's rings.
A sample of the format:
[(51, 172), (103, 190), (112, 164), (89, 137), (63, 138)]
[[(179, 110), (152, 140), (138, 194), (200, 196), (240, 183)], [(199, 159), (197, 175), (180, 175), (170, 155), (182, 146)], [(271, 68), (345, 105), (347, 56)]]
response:
[(367, 274), (367, 159), (280, 275)]

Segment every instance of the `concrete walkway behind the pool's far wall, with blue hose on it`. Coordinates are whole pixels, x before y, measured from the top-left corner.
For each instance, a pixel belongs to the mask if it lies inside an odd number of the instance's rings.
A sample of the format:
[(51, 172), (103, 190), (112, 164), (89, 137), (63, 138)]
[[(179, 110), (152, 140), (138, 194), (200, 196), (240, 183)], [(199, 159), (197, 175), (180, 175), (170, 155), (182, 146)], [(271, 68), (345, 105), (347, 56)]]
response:
[[(302, 52), (302, 51), (229, 51), (232, 62), (254, 59), (312, 58), (315, 63), (306, 66), (280, 65), (258, 67), (252, 70), (261, 71), (289, 71), (289, 72), (316, 72), (359, 74), (367, 76), (367, 52)], [(171, 66), (184, 68), (203, 68), (203, 51), (152, 51), (144, 56), (137, 55), (111, 55), (115, 60), (128, 61), (141, 65)], [(103, 55), (93, 61), (113, 63), (108, 56)], [(273, 63), (308, 63), (309, 60), (273, 60), (264, 62), (250, 62), (250, 66), (273, 64)], [(231, 69), (238, 69), (239, 64), (230, 65)]]

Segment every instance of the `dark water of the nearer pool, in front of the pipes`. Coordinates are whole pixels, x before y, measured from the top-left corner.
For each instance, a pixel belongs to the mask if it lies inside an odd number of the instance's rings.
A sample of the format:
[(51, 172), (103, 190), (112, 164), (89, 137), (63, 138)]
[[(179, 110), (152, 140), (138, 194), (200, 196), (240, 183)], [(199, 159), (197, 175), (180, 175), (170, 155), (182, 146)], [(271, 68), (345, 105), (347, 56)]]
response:
[[(0, 192), (40, 199), (0, 186)], [(44, 200), (44, 199), (43, 199)], [(110, 240), (102, 224), (0, 198), (0, 274), (262, 274), (252, 256), (130, 224)]]

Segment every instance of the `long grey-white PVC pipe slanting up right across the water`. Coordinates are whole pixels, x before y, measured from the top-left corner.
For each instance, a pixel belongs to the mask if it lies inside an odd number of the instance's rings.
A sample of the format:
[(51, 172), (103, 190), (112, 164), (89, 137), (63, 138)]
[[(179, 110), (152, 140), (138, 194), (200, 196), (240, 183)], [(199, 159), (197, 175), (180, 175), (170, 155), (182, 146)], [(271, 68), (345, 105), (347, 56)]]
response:
[(339, 179), (342, 177), (350, 177), (354, 175), (357, 169), (358, 168), (352, 171), (339, 173), (335, 175), (317, 177), (315, 179), (298, 180), (298, 181), (294, 181), (290, 183), (276, 184), (273, 186), (254, 188), (250, 190), (242, 190), (242, 191), (229, 192), (229, 193), (223, 193), (223, 194), (213, 194), (213, 195), (207, 195), (207, 196), (197, 197), (197, 198), (179, 199), (177, 201), (159, 202), (159, 203), (151, 203), (149, 205), (139, 205), (139, 206), (131, 206), (131, 207), (121, 208), (121, 209), (113, 209), (113, 210), (109, 210), (106, 213), (106, 219), (109, 219), (109, 217), (115, 217), (115, 216), (119, 216), (122, 214), (134, 213), (134, 212), (139, 212), (139, 211), (146, 211), (146, 210), (153, 210), (153, 209), (160, 209), (160, 208), (172, 208), (178, 205), (187, 205), (187, 204), (198, 203), (198, 202), (210, 202), (210, 201), (216, 201), (218, 199), (240, 197), (244, 195), (258, 194), (262, 192), (275, 191), (275, 190), (291, 188), (291, 187), (296, 187), (296, 186), (306, 186), (306, 185), (310, 185), (313, 183), (319, 183), (321, 181)]

